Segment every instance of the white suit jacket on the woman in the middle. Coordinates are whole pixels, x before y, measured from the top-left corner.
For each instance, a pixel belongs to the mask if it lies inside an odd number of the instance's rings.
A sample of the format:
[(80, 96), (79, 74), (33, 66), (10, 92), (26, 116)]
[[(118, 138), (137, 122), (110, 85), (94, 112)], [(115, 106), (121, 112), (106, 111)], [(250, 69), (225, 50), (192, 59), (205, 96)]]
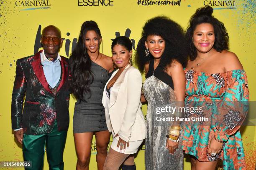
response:
[[(113, 72), (108, 82), (118, 72)], [(141, 73), (133, 66), (126, 66), (111, 88), (110, 99), (104, 88), (102, 104), (105, 107), (108, 130), (128, 141), (143, 140), (146, 124), (141, 111)]]

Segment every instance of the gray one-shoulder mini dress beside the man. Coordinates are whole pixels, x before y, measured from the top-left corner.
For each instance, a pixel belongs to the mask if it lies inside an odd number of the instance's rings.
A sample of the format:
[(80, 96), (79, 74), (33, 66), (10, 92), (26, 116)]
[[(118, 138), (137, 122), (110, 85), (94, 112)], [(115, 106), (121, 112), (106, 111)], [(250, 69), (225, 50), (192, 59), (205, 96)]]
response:
[(108, 130), (105, 110), (102, 105), (102, 95), (109, 79), (108, 70), (92, 62), (93, 82), (89, 93), (84, 93), (86, 102), (76, 102), (73, 117), (73, 132), (97, 132)]

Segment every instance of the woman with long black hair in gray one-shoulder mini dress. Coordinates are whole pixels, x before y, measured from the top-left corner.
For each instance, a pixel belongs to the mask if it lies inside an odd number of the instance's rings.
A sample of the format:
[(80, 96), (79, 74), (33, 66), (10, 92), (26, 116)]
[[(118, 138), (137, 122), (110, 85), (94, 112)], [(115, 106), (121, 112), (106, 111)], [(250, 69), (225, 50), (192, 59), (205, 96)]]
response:
[(71, 88), (77, 99), (73, 117), (77, 170), (89, 169), (94, 134), (98, 170), (103, 169), (108, 154), (110, 133), (101, 100), (109, 73), (113, 71), (113, 62), (111, 57), (99, 52), (101, 41), (97, 23), (86, 21), (82, 24), (77, 46), (70, 56)]

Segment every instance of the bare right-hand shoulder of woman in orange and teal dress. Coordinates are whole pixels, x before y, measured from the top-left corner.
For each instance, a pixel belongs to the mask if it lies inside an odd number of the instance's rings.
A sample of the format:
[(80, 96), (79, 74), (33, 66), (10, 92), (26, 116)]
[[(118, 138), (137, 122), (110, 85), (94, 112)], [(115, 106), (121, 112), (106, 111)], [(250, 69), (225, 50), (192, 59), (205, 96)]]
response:
[(223, 50), (220, 54), (223, 58), (225, 72), (230, 70), (243, 70), (243, 66), (235, 53)]

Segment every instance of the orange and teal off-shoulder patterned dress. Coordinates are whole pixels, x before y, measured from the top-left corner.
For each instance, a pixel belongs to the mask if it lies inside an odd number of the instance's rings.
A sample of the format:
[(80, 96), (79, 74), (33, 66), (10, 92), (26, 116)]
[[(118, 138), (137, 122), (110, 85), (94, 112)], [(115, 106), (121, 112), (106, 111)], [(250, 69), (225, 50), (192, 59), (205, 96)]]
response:
[[(182, 149), (202, 162), (220, 158), (223, 160), (224, 170), (245, 170), (239, 128), (248, 112), (246, 72), (231, 70), (207, 74), (187, 69), (184, 72), (185, 108), (190, 110), (186, 109), (184, 115), (186, 120)], [(212, 138), (223, 141), (223, 149), (215, 157), (207, 154)]]

